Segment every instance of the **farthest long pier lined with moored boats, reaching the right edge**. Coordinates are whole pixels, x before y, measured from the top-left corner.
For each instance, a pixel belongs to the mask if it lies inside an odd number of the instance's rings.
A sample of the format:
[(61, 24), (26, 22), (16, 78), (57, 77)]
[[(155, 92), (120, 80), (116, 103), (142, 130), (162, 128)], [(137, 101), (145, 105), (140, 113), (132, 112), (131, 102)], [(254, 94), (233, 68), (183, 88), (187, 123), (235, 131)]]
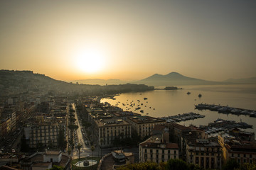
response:
[(220, 106), (214, 104), (198, 104), (195, 106), (198, 110), (210, 110), (218, 111), (218, 113), (234, 114), (234, 115), (249, 115), (250, 117), (256, 118), (256, 111), (244, 109), (244, 108), (233, 108), (229, 106)]

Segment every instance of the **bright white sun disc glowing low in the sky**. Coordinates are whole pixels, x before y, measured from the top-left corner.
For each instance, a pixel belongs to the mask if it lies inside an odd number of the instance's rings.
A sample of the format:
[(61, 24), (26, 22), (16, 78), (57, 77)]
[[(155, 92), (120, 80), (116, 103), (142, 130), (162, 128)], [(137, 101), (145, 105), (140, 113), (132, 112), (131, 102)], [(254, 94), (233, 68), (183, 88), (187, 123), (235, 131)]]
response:
[(100, 72), (105, 63), (104, 60), (103, 53), (96, 48), (80, 50), (76, 55), (78, 69), (89, 74)]

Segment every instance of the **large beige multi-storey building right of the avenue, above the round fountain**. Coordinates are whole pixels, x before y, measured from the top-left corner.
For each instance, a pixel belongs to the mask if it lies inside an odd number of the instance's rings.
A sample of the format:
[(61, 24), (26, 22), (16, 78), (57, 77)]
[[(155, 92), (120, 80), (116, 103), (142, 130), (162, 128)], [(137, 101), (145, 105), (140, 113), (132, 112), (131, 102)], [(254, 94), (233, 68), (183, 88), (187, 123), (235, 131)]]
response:
[(95, 119), (93, 134), (100, 147), (110, 147), (115, 139), (132, 137), (132, 126), (122, 119)]

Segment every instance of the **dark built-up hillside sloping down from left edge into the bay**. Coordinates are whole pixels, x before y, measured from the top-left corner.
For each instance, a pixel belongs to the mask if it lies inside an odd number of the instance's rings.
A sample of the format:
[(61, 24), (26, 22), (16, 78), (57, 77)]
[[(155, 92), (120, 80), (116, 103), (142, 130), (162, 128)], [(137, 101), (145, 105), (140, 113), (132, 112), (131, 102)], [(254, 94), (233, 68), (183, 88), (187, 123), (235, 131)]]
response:
[(17, 96), (21, 94), (99, 96), (153, 89), (154, 87), (144, 84), (108, 86), (73, 84), (46, 77), (44, 74), (34, 74), (32, 71), (0, 70), (0, 96)]

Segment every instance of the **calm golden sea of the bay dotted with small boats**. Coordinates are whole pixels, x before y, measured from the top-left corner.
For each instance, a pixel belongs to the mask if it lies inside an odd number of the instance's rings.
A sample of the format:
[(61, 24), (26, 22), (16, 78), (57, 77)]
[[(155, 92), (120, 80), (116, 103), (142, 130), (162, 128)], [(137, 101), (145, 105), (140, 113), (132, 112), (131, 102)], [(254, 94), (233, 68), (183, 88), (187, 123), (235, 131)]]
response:
[[(178, 88), (182, 88), (178, 90), (164, 90), (164, 87), (156, 87), (159, 90), (154, 91), (119, 94), (119, 96), (114, 96), (114, 100), (102, 98), (101, 102), (108, 102), (112, 106), (118, 106), (124, 111), (132, 111), (134, 113), (140, 113), (140, 110), (135, 110), (140, 105), (139, 107), (144, 111), (144, 113), (140, 114), (155, 118), (189, 112), (205, 115), (204, 118), (179, 123), (186, 126), (191, 124), (196, 126), (208, 125), (208, 123), (213, 123), (218, 118), (235, 120), (236, 122), (242, 121), (253, 125), (252, 128), (246, 129), (246, 131), (256, 133), (256, 118), (252, 118), (249, 115), (232, 115), (195, 109), (195, 105), (199, 103), (208, 103), (256, 111), (255, 84), (178, 86)], [(188, 91), (191, 94), (187, 94)], [(198, 97), (199, 94), (202, 95), (201, 98)], [(144, 98), (147, 99), (144, 100)], [(133, 107), (130, 106), (132, 103), (135, 103)], [(142, 103), (143, 105), (141, 105)]]

